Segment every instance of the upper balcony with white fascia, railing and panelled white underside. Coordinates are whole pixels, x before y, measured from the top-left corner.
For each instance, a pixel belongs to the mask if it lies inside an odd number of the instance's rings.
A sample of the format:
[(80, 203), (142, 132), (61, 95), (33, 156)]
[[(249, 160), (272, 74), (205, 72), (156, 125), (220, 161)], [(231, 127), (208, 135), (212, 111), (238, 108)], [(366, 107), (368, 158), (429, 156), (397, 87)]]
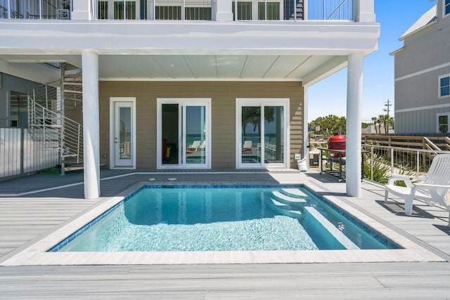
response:
[(307, 86), (377, 50), (374, 1), (0, 0), (0, 65), (45, 83), (59, 73), (41, 63), (82, 67), (93, 51), (102, 80)]

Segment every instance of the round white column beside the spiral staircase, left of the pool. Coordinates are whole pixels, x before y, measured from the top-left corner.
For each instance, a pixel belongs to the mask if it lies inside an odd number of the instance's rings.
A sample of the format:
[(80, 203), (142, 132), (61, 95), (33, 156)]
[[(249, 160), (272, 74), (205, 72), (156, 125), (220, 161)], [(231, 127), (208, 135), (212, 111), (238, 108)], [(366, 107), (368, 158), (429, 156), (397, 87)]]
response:
[(100, 196), (100, 122), (98, 117), (98, 55), (82, 52), (84, 198)]

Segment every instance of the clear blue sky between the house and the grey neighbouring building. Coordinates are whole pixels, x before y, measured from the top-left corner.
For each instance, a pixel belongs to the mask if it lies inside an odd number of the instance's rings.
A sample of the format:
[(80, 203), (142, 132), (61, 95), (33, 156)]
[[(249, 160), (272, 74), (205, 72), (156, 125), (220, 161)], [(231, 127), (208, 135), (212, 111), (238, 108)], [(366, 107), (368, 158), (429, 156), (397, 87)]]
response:
[[(403, 46), (399, 37), (435, 5), (430, 0), (375, 0), (381, 36), (378, 51), (364, 58), (363, 121), (385, 114), (387, 99), (394, 101), (394, 57), (389, 53)], [(309, 87), (308, 98), (308, 122), (327, 115), (345, 116), (347, 68)], [(390, 110), (393, 116), (394, 105)]]

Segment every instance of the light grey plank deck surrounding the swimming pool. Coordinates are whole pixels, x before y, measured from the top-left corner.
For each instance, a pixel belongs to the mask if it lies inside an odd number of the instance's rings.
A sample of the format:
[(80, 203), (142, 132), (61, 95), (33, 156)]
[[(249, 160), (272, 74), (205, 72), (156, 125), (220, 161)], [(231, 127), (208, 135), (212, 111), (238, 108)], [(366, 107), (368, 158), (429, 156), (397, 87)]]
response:
[[(84, 214), (136, 181), (299, 183), (297, 174), (205, 172), (120, 176), (102, 171), (101, 199), (84, 200), (82, 173), (37, 174), (0, 183), (0, 263)], [(383, 203), (383, 188), (363, 183), (360, 198), (345, 197), (345, 183), (316, 172), (302, 181), (326, 186), (328, 195), (372, 216), (450, 260), (448, 213), (415, 202), (413, 216), (401, 202)], [(59, 185), (64, 188), (50, 189)], [(31, 193), (32, 190), (41, 190)], [(18, 196), (17, 196), (18, 195)], [(0, 266), (0, 299), (449, 299), (450, 263), (302, 263), (159, 266)]]

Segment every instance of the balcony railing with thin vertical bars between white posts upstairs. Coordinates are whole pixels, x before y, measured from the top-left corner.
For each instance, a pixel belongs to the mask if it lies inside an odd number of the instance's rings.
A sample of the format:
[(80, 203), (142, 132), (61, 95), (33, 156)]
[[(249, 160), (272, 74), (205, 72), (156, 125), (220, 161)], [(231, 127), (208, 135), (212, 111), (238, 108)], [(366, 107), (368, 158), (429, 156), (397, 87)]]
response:
[[(78, 2), (79, 1), (79, 2)], [(96, 20), (215, 20), (221, 0), (77, 0)], [(0, 18), (71, 20), (73, 0), (0, 0)], [(235, 21), (354, 20), (354, 0), (231, 1)]]

